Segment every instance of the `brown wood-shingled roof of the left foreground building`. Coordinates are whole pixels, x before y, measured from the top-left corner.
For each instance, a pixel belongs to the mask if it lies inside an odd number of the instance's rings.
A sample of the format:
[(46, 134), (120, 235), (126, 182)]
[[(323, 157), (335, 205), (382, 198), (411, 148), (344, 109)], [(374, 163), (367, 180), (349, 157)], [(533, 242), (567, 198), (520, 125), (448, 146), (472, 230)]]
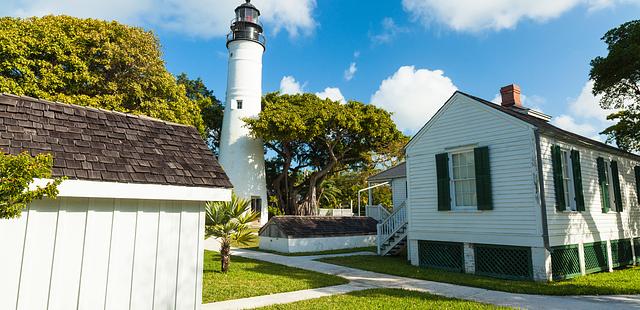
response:
[(232, 187), (194, 127), (0, 94), (0, 150), (53, 155), (53, 176)]

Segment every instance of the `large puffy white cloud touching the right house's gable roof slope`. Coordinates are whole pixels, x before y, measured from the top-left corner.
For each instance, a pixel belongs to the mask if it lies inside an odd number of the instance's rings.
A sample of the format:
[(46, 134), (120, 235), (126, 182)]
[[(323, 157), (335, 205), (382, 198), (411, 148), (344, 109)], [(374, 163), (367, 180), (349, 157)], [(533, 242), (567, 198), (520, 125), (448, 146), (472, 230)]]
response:
[(371, 104), (393, 113), (393, 120), (405, 133), (415, 133), (457, 90), (442, 70), (400, 67), (380, 84)]

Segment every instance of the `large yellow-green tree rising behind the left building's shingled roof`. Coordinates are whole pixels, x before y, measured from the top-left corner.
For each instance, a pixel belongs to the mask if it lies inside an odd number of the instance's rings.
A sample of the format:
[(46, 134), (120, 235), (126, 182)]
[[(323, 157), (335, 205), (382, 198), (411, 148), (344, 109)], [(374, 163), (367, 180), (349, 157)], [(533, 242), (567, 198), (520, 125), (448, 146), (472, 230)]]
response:
[(200, 107), (167, 71), (151, 32), (69, 16), (0, 18), (0, 92), (193, 125)]

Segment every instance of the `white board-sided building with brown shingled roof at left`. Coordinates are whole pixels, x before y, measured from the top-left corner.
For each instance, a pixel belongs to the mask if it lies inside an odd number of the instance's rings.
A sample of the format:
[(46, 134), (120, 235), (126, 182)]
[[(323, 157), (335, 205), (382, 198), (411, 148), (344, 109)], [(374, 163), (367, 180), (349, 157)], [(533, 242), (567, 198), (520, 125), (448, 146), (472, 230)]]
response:
[(0, 220), (0, 309), (199, 309), (204, 205), (231, 184), (195, 128), (0, 95), (0, 150), (67, 177)]

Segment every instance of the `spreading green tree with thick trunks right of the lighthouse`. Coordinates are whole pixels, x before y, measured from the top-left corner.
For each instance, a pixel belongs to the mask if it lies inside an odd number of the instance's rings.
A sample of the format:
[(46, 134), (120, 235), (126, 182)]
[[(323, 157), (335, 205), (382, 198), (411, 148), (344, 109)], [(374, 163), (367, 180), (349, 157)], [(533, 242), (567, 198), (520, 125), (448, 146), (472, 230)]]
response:
[(317, 214), (329, 176), (370, 166), (389, 145), (406, 140), (391, 115), (373, 105), (279, 93), (267, 94), (262, 105), (246, 122), (276, 154), (268, 163), (270, 188), (287, 214)]

